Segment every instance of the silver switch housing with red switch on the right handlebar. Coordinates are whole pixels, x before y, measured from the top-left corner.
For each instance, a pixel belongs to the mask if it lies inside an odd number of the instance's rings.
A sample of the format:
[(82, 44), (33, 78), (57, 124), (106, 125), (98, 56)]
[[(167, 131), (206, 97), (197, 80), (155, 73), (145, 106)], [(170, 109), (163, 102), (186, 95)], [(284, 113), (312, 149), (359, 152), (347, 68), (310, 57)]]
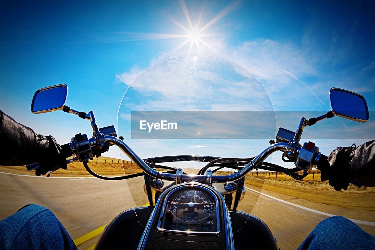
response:
[(303, 143), (300, 153), (296, 161), (296, 167), (302, 169), (305, 173), (310, 173), (313, 166), (315, 166), (315, 158), (317, 157), (319, 148), (315, 143)]

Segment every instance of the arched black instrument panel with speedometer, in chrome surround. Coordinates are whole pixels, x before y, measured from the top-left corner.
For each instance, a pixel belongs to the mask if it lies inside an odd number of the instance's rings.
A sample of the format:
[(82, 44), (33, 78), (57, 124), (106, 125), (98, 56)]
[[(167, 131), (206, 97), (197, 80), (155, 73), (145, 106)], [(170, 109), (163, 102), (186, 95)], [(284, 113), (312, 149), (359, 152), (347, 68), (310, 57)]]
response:
[(219, 214), (218, 199), (209, 188), (200, 185), (175, 188), (165, 197), (157, 230), (218, 234)]

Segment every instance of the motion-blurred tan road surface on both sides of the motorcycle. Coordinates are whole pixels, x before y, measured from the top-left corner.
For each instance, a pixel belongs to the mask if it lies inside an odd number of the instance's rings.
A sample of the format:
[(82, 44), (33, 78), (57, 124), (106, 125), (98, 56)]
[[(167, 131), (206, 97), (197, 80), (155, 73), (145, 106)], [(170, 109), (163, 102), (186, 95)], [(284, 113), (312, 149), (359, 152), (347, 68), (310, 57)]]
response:
[[(0, 173), (0, 220), (26, 204), (34, 203), (51, 209), (73, 239), (110, 222), (120, 212), (144, 205), (143, 177), (124, 181), (104, 181), (95, 178), (37, 178)], [(276, 236), (281, 249), (296, 249), (312, 229), (328, 214), (343, 215), (355, 220), (375, 222), (375, 212), (354, 211), (333, 207), (263, 190), (254, 207), (257, 189), (247, 186), (239, 210), (260, 217)], [(132, 189), (130, 192), (129, 188)], [(252, 190), (255, 191), (252, 191)], [(297, 206), (289, 205), (293, 203)], [(321, 211), (312, 212), (300, 207)], [(359, 224), (375, 235), (375, 227)], [(86, 249), (98, 237), (80, 245)]]

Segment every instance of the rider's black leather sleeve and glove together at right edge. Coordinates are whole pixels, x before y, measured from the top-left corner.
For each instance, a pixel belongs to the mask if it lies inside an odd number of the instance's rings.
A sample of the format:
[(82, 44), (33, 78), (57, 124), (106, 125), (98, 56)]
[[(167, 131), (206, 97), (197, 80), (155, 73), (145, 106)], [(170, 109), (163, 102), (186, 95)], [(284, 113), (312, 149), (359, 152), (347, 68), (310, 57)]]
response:
[(366, 187), (375, 186), (375, 140), (358, 147), (354, 144), (338, 147), (328, 158), (321, 160), (321, 181), (328, 180), (337, 191), (347, 190), (350, 181)]

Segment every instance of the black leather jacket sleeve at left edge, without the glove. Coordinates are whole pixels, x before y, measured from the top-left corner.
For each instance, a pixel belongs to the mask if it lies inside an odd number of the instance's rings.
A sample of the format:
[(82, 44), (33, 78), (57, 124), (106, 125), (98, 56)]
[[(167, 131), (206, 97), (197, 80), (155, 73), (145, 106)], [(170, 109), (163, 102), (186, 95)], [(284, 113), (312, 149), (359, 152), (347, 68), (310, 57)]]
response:
[(0, 165), (22, 166), (37, 161), (36, 133), (0, 110)]

